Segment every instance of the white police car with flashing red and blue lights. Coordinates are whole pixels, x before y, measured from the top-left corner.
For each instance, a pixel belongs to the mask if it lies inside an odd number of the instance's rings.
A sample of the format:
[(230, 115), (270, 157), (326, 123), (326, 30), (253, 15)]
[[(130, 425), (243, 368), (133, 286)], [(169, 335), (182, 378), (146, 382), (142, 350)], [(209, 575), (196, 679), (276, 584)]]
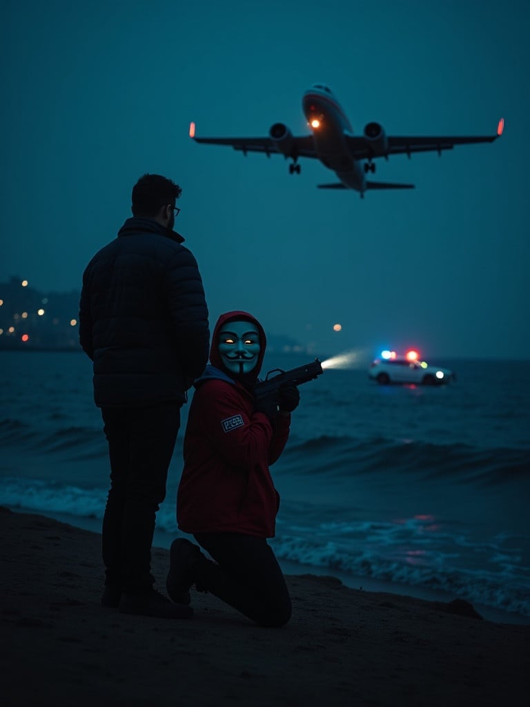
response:
[(420, 361), (417, 351), (407, 351), (404, 356), (399, 356), (396, 351), (383, 351), (381, 358), (372, 362), (368, 378), (376, 380), (379, 385), (445, 385), (456, 380), (452, 370)]

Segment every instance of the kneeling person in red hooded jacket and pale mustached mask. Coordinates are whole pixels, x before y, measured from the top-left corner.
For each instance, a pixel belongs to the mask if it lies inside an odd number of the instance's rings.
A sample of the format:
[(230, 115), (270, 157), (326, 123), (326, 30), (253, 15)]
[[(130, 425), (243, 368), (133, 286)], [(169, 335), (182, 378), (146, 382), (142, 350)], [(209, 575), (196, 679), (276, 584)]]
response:
[(291, 602), (266, 540), (274, 537), (280, 503), (269, 465), (285, 447), (300, 394), (285, 385), (278, 406), (256, 401), (265, 347), (252, 315), (219, 317), (211, 366), (194, 383), (177, 494), (179, 530), (193, 534), (215, 562), (189, 540), (176, 539), (166, 586), (174, 602), (189, 604), (195, 584), (261, 626), (283, 626)]

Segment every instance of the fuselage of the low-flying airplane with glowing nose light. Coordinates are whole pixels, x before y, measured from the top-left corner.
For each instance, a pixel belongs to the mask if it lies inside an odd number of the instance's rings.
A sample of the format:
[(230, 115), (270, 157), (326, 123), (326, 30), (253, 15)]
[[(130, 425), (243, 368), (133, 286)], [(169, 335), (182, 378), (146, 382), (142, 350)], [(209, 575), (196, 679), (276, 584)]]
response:
[(331, 90), (326, 86), (312, 86), (302, 97), (302, 110), (313, 134), (317, 158), (334, 171), (344, 185), (364, 192), (364, 171), (351, 156), (346, 143), (346, 135), (352, 135), (353, 129)]

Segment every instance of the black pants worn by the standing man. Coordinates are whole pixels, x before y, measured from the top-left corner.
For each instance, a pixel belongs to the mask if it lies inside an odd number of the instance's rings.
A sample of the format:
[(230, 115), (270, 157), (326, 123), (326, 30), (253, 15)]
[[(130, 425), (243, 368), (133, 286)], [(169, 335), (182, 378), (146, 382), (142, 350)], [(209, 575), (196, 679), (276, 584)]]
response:
[(102, 408), (109, 443), (110, 490), (103, 517), (106, 584), (130, 594), (153, 587), (151, 544), (165, 498), (180, 425), (180, 404)]

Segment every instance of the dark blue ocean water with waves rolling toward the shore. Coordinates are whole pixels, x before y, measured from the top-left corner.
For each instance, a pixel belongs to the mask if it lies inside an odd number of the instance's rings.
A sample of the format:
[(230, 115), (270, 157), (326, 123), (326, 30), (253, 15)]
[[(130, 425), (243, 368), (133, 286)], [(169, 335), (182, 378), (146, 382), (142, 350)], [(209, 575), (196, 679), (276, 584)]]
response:
[[(310, 361), (269, 354), (269, 368)], [(447, 387), (380, 387), (367, 365), (300, 387), (271, 467), (285, 571), (355, 588), (456, 597), (530, 623), (530, 365), (434, 361)], [(155, 544), (177, 532), (182, 427)], [(0, 504), (100, 530), (108, 488), (91, 365), (80, 352), (0, 351)], [(498, 612), (507, 612), (499, 614)]]

